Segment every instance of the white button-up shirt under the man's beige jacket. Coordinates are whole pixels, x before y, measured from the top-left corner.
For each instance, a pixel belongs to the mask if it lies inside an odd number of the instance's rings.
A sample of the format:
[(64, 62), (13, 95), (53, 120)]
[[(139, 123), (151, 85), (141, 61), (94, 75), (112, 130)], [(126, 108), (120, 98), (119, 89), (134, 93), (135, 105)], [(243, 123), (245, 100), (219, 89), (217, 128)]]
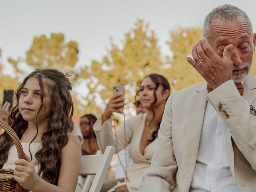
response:
[(189, 192), (241, 192), (226, 156), (228, 127), (207, 101), (196, 167)]

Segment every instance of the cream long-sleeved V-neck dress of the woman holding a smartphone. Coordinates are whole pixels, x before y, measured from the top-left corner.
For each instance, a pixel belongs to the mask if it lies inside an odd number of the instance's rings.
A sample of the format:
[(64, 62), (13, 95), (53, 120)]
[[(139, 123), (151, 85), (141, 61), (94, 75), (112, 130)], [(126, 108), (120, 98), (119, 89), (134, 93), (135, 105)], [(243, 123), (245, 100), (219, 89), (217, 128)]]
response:
[(144, 154), (140, 152), (140, 141), (145, 126), (147, 114), (139, 114), (134, 118), (126, 120), (125, 130), (126, 138), (124, 137), (124, 124), (116, 130), (115, 134), (112, 132), (112, 120), (109, 119), (103, 124), (102, 119), (98, 119), (94, 126), (94, 132), (96, 134), (100, 150), (104, 152), (106, 146), (115, 146), (117, 151), (124, 149), (124, 147), (130, 144), (129, 155), (133, 162), (127, 169), (127, 176), (130, 183), (127, 183), (129, 192), (137, 192), (138, 186), (141, 183), (143, 173), (150, 168), (151, 159), (154, 154), (157, 138), (146, 146)]

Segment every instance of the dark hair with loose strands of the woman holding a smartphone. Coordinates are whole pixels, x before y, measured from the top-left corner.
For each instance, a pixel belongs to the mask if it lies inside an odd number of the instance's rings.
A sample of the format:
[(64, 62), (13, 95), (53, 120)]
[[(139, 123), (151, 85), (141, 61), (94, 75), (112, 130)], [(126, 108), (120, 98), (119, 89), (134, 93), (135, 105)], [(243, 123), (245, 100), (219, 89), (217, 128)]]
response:
[[(155, 116), (156, 116), (156, 113), (155, 113), (155, 110), (154, 110), (154, 104), (155, 104), (156, 101), (157, 101), (157, 98), (156, 98), (156, 90), (158, 89), (159, 85), (162, 85), (162, 86), (163, 86), (162, 92), (164, 92), (166, 89), (170, 90), (170, 84), (169, 84), (168, 80), (167, 80), (164, 76), (162, 76), (162, 75), (158, 75), (158, 74), (153, 73), (153, 74), (150, 74), (150, 75), (144, 77), (144, 79), (147, 78), (147, 77), (149, 77), (149, 78), (156, 84), (156, 88), (155, 88), (155, 90), (154, 90), (154, 98), (155, 98), (155, 100), (154, 100), (154, 102), (153, 102), (152, 105), (151, 105), (151, 110), (153, 111), (153, 118), (152, 118), (152, 120), (149, 122), (149, 127), (150, 127), (151, 122), (154, 120), (154, 118), (155, 118)], [(143, 80), (144, 80), (144, 79), (143, 79)], [(142, 81), (143, 81), (143, 80), (142, 80)], [(140, 82), (140, 86), (141, 86), (142, 81)], [(135, 101), (136, 101), (136, 96), (137, 96), (139, 93), (140, 93), (140, 89), (138, 90), (138, 92), (137, 92), (136, 95), (135, 95)], [(152, 138), (153, 138), (152, 141), (154, 141), (154, 140), (156, 139), (156, 137), (157, 137), (157, 133), (158, 133), (158, 130), (159, 130), (159, 128), (160, 128), (160, 123), (161, 123), (161, 122), (159, 122), (159, 124), (158, 124), (158, 128), (152, 132)], [(150, 127), (150, 128), (151, 128), (151, 127)]]

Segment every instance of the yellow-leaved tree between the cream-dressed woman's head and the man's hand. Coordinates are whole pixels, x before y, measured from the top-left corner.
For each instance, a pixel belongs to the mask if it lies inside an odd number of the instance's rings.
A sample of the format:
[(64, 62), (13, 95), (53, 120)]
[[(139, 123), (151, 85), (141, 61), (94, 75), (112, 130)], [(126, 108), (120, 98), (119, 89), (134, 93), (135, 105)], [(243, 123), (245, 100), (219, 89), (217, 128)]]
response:
[(171, 40), (168, 41), (173, 52), (171, 68), (172, 91), (181, 90), (203, 82), (202, 76), (188, 63), (187, 56), (191, 56), (191, 46), (202, 38), (202, 27), (177, 27), (170, 31)]

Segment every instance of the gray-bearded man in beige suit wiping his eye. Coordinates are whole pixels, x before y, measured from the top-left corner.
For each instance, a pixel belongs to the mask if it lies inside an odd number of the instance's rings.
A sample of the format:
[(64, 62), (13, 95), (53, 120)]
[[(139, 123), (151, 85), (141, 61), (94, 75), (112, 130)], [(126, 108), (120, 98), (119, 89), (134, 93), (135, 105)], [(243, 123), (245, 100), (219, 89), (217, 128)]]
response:
[(256, 191), (256, 34), (244, 11), (223, 5), (203, 36), (186, 59), (206, 82), (169, 97), (139, 192)]

